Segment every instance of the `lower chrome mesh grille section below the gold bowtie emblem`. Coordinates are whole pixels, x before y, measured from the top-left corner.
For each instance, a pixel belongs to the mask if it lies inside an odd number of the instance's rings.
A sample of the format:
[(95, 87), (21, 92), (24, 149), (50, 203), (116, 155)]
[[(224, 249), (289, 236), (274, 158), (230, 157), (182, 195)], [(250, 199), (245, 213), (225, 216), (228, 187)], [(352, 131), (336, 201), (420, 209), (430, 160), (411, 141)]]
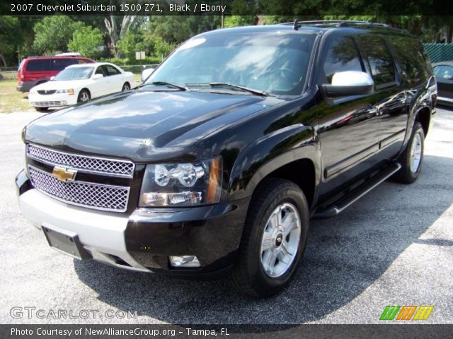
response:
[(30, 165), (28, 172), (35, 189), (59, 201), (97, 210), (127, 210), (129, 187), (79, 181), (62, 182), (52, 174)]

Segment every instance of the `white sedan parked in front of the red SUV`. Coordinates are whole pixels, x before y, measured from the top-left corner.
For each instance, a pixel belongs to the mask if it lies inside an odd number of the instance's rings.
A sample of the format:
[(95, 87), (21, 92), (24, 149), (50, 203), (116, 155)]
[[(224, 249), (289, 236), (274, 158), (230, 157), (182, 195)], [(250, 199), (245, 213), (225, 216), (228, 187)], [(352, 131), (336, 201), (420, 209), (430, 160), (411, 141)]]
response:
[(45, 111), (49, 107), (74, 105), (133, 87), (134, 74), (114, 64), (78, 64), (68, 66), (51, 81), (33, 87), (28, 101), (38, 111)]

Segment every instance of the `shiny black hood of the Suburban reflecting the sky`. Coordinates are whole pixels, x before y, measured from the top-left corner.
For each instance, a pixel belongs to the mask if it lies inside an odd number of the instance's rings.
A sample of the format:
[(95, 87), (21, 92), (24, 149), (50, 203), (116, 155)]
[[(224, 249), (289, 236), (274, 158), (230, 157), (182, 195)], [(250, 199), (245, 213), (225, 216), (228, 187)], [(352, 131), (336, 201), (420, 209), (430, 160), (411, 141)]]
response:
[(145, 162), (188, 148), (222, 126), (282, 100), (197, 91), (134, 90), (47, 114), (27, 142)]

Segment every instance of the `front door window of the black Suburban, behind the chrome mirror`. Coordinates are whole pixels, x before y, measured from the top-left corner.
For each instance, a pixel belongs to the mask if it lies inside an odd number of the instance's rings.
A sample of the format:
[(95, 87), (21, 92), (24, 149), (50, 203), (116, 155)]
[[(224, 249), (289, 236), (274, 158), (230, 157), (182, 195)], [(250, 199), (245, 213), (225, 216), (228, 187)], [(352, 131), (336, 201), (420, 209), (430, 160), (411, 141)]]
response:
[(326, 61), (324, 61), (324, 74), (327, 83), (332, 82), (334, 73), (341, 71), (362, 71), (357, 48), (350, 37), (333, 39), (328, 48)]

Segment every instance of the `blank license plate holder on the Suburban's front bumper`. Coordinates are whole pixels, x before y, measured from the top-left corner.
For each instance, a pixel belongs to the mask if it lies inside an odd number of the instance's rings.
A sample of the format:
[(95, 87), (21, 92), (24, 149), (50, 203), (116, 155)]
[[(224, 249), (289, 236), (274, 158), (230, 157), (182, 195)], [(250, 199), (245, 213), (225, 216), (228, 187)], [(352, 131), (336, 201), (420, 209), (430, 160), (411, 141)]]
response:
[(42, 231), (52, 249), (56, 249), (73, 258), (91, 258), (91, 255), (84, 249), (84, 246), (81, 244), (79, 236), (76, 233), (60, 229), (57, 230), (47, 225), (42, 225)]

